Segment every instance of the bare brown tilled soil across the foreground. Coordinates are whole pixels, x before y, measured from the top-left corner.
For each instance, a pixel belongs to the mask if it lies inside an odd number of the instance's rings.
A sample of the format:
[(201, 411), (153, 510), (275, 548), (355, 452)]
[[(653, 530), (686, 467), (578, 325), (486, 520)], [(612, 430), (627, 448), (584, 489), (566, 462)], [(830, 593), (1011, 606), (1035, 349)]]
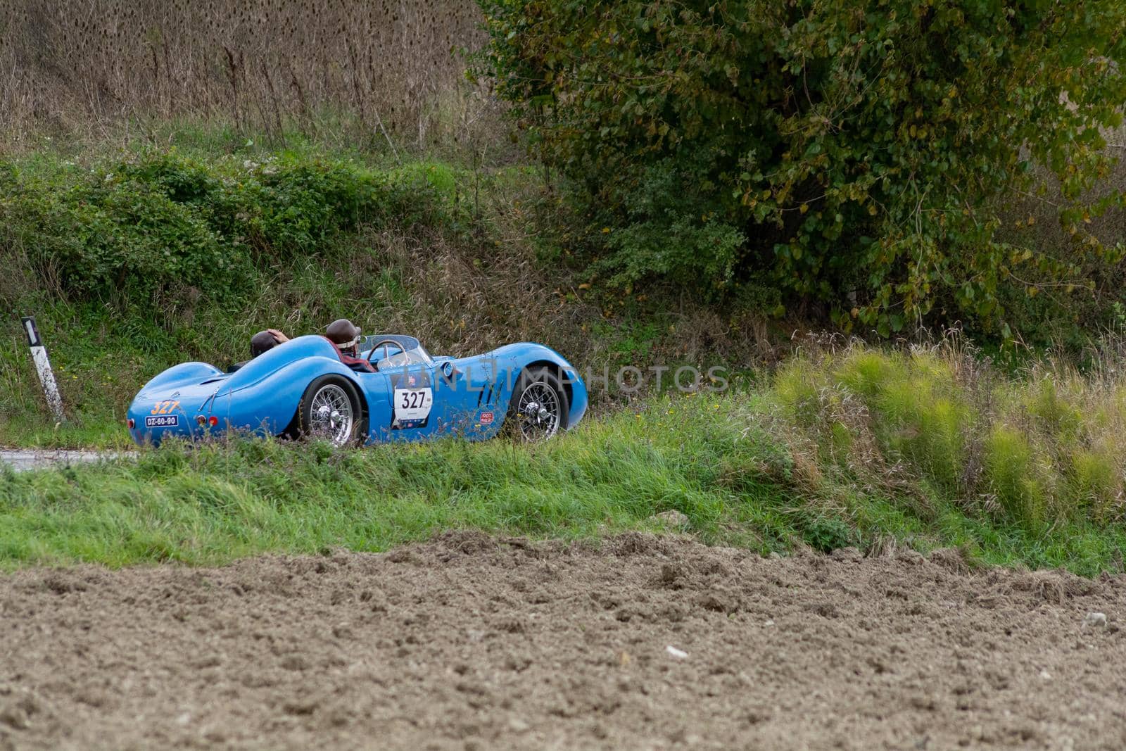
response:
[(1123, 579), (646, 536), (29, 570), (0, 749), (1117, 750), (1124, 613)]

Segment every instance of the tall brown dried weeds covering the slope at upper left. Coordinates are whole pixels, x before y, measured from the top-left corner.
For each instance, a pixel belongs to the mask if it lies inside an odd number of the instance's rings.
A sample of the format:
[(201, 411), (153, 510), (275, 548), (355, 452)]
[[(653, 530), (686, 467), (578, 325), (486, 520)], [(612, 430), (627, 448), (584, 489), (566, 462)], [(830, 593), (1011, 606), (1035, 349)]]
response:
[(217, 116), (282, 138), (334, 113), (425, 149), (490, 115), (459, 54), (479, 17), (458, 0), (0, 0), (0, 137)]

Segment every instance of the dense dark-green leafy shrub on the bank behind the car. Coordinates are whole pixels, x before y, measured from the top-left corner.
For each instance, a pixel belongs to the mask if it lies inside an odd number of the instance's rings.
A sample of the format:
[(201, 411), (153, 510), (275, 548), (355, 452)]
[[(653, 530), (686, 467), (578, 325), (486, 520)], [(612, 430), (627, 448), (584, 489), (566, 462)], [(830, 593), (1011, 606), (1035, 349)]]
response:
[(200, 162), (175, 152), (92, 169), (0, 171), (0, 257), (71, 301), (222, 299), (256, 269), (363, 225), (435, 221), (425, 182), (315, 159)]

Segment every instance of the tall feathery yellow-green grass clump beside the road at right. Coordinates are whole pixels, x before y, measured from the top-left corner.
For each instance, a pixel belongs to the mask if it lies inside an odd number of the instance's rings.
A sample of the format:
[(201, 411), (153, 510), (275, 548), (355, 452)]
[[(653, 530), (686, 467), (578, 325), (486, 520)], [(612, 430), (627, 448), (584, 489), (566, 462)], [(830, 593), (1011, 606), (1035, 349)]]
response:
[(1107, 333), (1082, 372), (1045, 356), (1007, 374), (956, 333), (901, 350), (811, 339), (776, 374), (776, 433), (826, 498), (885, 494), (920, 516), (949, 499), (1031, 528), (1120, 522), (1124, 355)]

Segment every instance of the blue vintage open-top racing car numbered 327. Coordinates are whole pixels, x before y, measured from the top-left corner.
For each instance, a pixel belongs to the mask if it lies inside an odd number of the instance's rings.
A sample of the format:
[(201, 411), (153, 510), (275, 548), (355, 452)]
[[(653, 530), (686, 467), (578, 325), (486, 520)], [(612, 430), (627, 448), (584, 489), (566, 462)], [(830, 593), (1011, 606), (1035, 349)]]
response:
[(321, 336), (297, 337), (226, 372), (184, 363), (129, 405), (129, 435), (158, 445), (227, 430), (311, 436), (337, 446), (440, 436), (482, 440), (508, 429), (551, 438), (587, 411), (578, 372), (554, 350), (508, 345), (476, 357), (432, 357), (413, 337), (364, 337), (345, 357)]

